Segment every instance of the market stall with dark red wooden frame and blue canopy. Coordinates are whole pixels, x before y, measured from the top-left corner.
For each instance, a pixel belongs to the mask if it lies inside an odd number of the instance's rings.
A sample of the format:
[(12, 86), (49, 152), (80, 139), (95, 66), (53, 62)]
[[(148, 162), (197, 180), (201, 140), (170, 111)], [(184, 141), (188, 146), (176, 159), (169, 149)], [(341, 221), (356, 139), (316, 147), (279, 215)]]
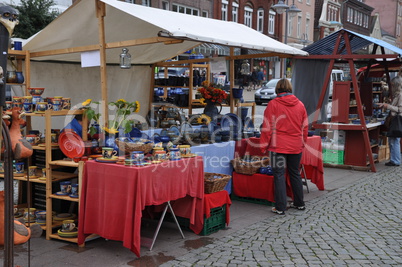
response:
[[(390, 52), (385, 53), (385, 49)], [(386, 100), (385, 92), (381, 82), (370, 78), (369, 72), (358, 80), (355, 68), (357, 64), (365, 64), (370, 68), (376, 60), (381, 61), (385, 66), (386, 83), (391, 95), (388, 66), (395, 62), (391, 63), (389, 60), (399, 58), (402, 50), (382, 40), (346, 29), (334, 32), (303, 50), (309, 52), (310, 56), (296, 58), (293, 74), (295, 95), (305, 104), (312, 118), (312, 128), (336, 133), (337, 143), (326, 147), (326, 151), (333, 152), (336, 158), (330, 165), (357, 167), (375, 172), (380, 141), (383, 138), (380, 134), (383, 116), (380, 113), (383, 112), (375, 108), (374, 104)], [(333, 83), (332, 107), (329, 112), (332, 117), (328, 122), (326, 109), (330, 99), (330, 76), (335, 64), (344, 64), (350, 71), (350, 77)], [(312, 80), (315, 83), (311, 83)], [(328, 162), (325, 156), (324, 153), (324, 161)]]

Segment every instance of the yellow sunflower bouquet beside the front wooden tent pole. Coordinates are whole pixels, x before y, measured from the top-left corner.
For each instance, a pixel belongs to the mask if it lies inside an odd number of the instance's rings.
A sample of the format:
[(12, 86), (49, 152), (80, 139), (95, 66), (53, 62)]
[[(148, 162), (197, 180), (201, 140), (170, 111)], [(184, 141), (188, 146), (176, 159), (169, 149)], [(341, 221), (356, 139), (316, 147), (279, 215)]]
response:
[(134, 113), (140, 111), (140, 103), (138, 101), (127, 102), (124, 99), (119, 99), (116, 102), (109, 102), (110, 109), (115, 109), (115, 115), (113, 120), (109, 121), (108, 126), (103, 129), (107, 133), (116, 134), (119, 129), (123, 129), (124, 133), (129, 133), (132, 129), (133, 121), (128, 117)]

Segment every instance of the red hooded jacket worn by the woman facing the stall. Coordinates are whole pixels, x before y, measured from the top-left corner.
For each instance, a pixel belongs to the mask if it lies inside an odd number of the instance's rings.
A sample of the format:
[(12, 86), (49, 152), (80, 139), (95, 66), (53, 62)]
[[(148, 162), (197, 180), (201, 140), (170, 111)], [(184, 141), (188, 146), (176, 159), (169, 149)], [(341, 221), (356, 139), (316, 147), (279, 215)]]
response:
[(308, 119), (304, 104), (293, 94), (281, 93), (268, 103), (261, 129), (261, 150), (299, 154), (307, 141)]

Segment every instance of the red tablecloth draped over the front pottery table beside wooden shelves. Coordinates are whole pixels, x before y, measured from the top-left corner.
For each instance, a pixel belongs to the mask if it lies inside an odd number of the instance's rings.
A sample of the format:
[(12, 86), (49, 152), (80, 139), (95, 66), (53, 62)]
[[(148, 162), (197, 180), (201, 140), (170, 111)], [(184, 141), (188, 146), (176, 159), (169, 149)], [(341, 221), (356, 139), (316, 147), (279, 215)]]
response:
[(188, 197), (191, 208), (176, 210), (190, 219), (190, 228), (200, 233), (204, 224), (204, 165), (202, 157), (164, 162), (146, 167), (88, 161), (81, 186), (78, 244), (85, 236), (98, 234), (123, 241), (140, 256), (142, 210), (170, 200)]

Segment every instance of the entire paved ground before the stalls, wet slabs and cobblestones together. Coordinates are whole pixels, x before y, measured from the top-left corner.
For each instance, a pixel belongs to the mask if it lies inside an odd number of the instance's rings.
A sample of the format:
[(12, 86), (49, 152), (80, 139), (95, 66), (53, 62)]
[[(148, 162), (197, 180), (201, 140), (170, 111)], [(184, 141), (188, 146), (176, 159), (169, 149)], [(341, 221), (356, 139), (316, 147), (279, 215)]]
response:
[[(305, 211), (233, 201), (229, 227), (209, 236), (142, 223), (141, 257), (119, 241), (76, 244), (44, 236), (15, 246), (14, 266), (402, 266), (402, 167), (377, 173), (325, 168), (325, 191), (309, 183)], [(3, 258), (3, 252), (0, 251)]]

